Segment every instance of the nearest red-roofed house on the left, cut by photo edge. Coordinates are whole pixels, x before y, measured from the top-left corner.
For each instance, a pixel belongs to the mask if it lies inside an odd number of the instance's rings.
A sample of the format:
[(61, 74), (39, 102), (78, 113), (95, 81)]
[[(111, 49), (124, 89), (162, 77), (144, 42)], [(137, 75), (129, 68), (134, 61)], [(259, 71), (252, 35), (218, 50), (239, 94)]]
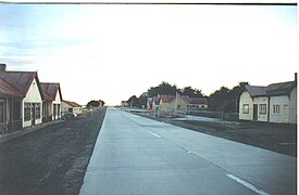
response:
[(37, 72), (8, 72), (0, 64), (0, 134), (41, 123), (42, 100)]

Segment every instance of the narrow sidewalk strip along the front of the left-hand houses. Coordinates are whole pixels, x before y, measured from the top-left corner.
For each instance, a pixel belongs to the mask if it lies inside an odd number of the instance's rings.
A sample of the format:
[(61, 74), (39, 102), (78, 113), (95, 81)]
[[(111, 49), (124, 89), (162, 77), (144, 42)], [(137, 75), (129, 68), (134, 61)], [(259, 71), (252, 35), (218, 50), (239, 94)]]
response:
[(40, 123), (40, 125), (34, 126), (34, 127), (28, 127), (28, 128), (25, 128), (25, 129), (22, 129), (22, 130), (12, 132), (12, 133), (0, 135), (0, 144), (4, 143), (7, 141), (10, 141), (12, 139), (20, 138), (20, 136), (23, 136), (23, 135), (28, 134), (30, 132), (34, 132), (34, 131), (39, 130), (41, 128), (45, 128), (49, 125), (59, 123), (59, 122), (63, 122), (63, 121), (64, 120), (61, 120), (61, 119), (60, 120), (53, 120), (53, 121), (50, 121), (50, 122)]

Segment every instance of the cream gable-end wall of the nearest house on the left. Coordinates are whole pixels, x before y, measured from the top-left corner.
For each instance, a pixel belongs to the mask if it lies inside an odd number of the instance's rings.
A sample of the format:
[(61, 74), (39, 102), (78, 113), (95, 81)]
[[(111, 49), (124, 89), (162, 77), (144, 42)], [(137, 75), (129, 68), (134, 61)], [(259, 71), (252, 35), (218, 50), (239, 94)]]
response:
[[(22, 106), (22, 120), (23, 120), (23, 128), (32, 126), (32, 120), (24, 121), (24, 103), (39, 103), (40, 104), (40, 118), (35, 120), (35, 123), (41, 123), (42, 122), (42, 100), (40, 95), (40, 91), (37, 86), (36, 79), (33, 80), (29, 90), (27, 91), (27, 94), (25, 99), (23, 100), (23, 106)], [(33, 117), (33, 116), (32, 116)]]

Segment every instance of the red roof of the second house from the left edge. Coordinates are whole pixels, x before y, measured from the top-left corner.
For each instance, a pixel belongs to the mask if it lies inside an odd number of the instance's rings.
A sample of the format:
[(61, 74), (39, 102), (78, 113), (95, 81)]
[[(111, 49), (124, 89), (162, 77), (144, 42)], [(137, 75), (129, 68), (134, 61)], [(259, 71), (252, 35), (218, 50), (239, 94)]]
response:
[(60, 83), (40, 82), (40, 86), (46, 101), (54, 101), (58, 92), (61, 95)]

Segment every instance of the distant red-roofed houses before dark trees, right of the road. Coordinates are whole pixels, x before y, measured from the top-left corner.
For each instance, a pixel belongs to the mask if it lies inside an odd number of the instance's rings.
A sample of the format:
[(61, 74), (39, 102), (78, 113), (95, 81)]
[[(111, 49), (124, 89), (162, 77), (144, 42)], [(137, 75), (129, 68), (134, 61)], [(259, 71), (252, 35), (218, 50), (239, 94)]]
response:
[(186, 113), (208, 108), (205, 98), (190, 98), (188, 95), (159, 95), (148, 98), (147, 108), (149, 110), (160, 110), (165, 113)]

